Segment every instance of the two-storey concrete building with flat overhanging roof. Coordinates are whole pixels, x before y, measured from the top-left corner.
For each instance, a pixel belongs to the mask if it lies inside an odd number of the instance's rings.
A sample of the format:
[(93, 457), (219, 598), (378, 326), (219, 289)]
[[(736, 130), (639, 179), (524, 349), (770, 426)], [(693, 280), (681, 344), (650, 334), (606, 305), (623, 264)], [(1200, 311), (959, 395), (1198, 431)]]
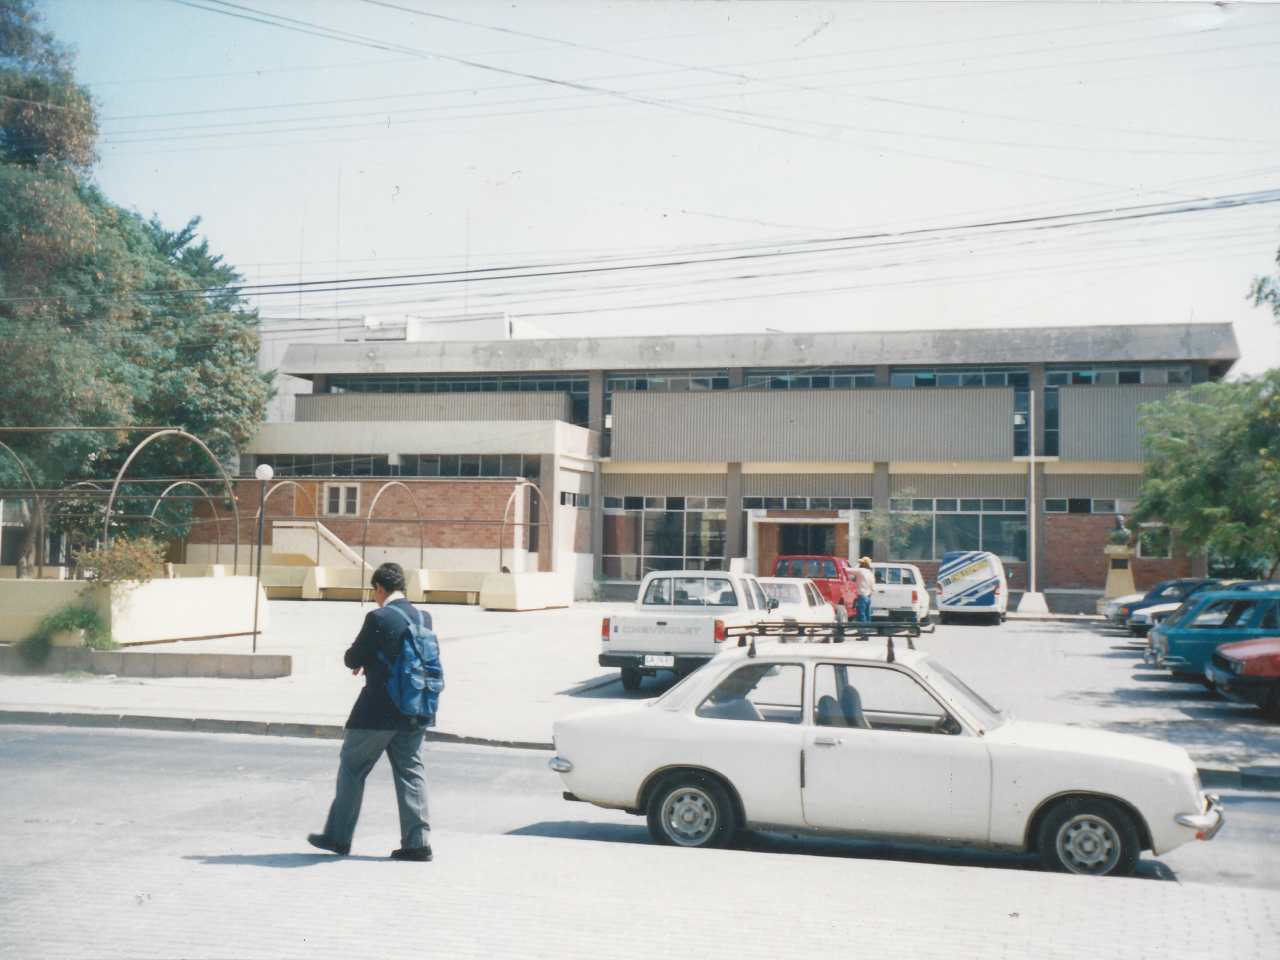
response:
[[(780, 552), (872, 553), (928, 577), (948, 549), (978, 548), (1025, 589), (1034, 520), (1038, 586), (1065, 607), (1101, 591), (1106, 534), (1138, 495), (1139, 407), (1239, 358), (1229, 324), (486, 333), (292, 343), (280, 374), (311, 393), (264, 425), (242, 468), (310, 477), (326, 506), (378, 477), (535, 479), (553, 512), (541, 562), (572, 568), (579, 595), (732, 557), (764, 571)], [(873, 508), (924, 520), (905, 543), (872, 543)], [(1146, 534), (1139, 585), (1203, 570)], [(438, 563), (497, 557), (479, 540), (439, 549)]]

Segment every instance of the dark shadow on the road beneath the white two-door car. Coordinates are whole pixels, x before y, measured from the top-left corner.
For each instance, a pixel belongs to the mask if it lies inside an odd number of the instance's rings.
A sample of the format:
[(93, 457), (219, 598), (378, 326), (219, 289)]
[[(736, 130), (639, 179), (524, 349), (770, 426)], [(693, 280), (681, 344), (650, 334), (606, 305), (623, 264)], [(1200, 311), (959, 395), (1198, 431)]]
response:
[[(649, 829), (643, 823), (589, 823), (562, 820), (534, 823), (507, 831), (513, 837), (550, 837), (554, 840), (594, 840), (612, 844), (653, 844)], [(980, 867), (1000, 870), (1043, 870), (1036, 854), (997, 854), (986, 850), (948, 850), (931, 846), (897, 846), (863, 840), (835, 840), (827, 837), (797, 837), (785, 833), (742, 833), (731, 850), (758, 854), (800, 854), (806, 856), (832, 856), (849, 860), (893, 860), (897, 863), (937, 864), (940, 867)], [(696, 855), (696, 851), (690, 851)], [(1158, 860), (1143, 859), (1134, 874), (1139, 879), (1176, 881), (1178, 876)]]

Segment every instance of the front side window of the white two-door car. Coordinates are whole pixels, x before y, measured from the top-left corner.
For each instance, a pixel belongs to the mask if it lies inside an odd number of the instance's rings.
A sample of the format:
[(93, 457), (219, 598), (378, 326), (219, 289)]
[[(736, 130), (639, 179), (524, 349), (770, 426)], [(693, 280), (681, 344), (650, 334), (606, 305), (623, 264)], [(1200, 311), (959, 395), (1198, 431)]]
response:
[(923, 686), (892, 667), (819, 663), (814, 671), (819, 727), (959, 733), (960, 726)]

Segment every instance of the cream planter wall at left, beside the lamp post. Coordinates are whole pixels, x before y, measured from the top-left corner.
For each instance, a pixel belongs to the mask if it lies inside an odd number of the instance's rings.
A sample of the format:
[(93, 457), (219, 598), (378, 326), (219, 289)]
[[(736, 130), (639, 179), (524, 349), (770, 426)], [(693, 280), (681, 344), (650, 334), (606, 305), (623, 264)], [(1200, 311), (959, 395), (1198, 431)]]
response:
[[(87, 604), (118, 644), (154, 644), (253, 632), (253, 577), (175, 577), (146, 584), (83, 580), (0, 580), (0, 641), (29, 635), (46, 613)], [(257, 628), (270, 609), (259, 594)]]

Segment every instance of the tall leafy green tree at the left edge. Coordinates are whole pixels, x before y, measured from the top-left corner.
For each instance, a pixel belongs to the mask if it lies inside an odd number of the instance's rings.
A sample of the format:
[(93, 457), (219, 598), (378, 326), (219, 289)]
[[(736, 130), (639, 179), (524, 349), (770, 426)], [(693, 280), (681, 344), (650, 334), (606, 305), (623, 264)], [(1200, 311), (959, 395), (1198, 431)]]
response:
[[(237, 271), (197, 239), (198, 218), (170, 232), (102, 196), (88, 179), (96, 137), (70, 51), (40, 28), (32, 0), (0, 0), (0, 426), (173, 425), (225, 460), (271, 396), (257, 315)], [(114, 476), (137, 439), (5, 434), (47, 486)], [(211, 470), (164, 442), (136, 462), (151, 476)], [(24, 485), (8, 458), (0, 484)], [(138, 493), (124, 490), (122, 512), (150, 511)], [(179, 504), (164, 518), (180, 529), (189, 513)], [(24, 564), (35, 535), (31, 522)]]

